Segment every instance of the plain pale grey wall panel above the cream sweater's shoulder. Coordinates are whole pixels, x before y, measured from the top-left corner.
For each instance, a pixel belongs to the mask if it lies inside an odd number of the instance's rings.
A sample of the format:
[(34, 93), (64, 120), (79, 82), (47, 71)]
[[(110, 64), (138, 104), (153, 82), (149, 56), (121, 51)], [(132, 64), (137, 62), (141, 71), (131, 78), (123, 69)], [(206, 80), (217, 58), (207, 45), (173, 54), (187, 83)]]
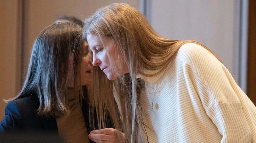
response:
[(219, 56), (238, 80), (239, 57), (235, 52), (239, 50), (236, 44), (239, 41), (239, 5), (235, 0), (158, 0), (151, 3), (149, 21), (160, 35), (200, 41)]

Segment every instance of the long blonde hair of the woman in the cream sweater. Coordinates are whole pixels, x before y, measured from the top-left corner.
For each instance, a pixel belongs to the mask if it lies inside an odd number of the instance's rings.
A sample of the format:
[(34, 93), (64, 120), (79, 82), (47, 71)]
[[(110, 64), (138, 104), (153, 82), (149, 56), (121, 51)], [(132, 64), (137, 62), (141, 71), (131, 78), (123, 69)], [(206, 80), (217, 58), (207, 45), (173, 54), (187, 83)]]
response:
[[(200, 43), (162, 37), (155, 32), (145, 16), (137, 9), (122, 3), (100, 8), (94, 15), (88, 17), (85, 20), (83, 33), (84, 38), (87, 35), (98, 36), (103, 44), (105, 38), (114, 40), (117, 44), (117, 52), (121, 54), (130, 70), (130, 74), (108, 81), (100, 68), (94, 67), (96, 71), (93, 82), (94, 101), (92, 102), (94, 103), (91, 104), (106, 106), (106, 109), (101, 107), (97, 109), (101, 115), (103, 110), (113, 110), (113, 108), (109, 109), (113, 104), (108, 102), (107, 98), (113, 94), (117, 95), (117, 100), (120, 101), (121, 127), (123, 126), (119, 129), (126, 133), (129, 142), (140, 142), (138, 139), (142, 137), (140, 133), (142, 133), (143, 123), (138, 99), (139, 91), (144, 85), (143, 81), (137, 79), (138, 75), (153, 77), (163, 72), (166, 65), (174, 60), (181, 45), (187, 42)], [(111, 57), (109, 59), (110, 65), (114, 65), (116, 61), (112, 61)], [(115, 67), (115, 69), (118, 74), (119, 68)], [(147, 70), (154, 72), (148, 74), (145, 72)], [(110, 93), (105, 94), (105, 91)], [(102, 98), (102, 96), (106, 97)], [(98, 119), (104, 120), (101, 117)], [(114, 120), (114, 123), (118, 122)]]

